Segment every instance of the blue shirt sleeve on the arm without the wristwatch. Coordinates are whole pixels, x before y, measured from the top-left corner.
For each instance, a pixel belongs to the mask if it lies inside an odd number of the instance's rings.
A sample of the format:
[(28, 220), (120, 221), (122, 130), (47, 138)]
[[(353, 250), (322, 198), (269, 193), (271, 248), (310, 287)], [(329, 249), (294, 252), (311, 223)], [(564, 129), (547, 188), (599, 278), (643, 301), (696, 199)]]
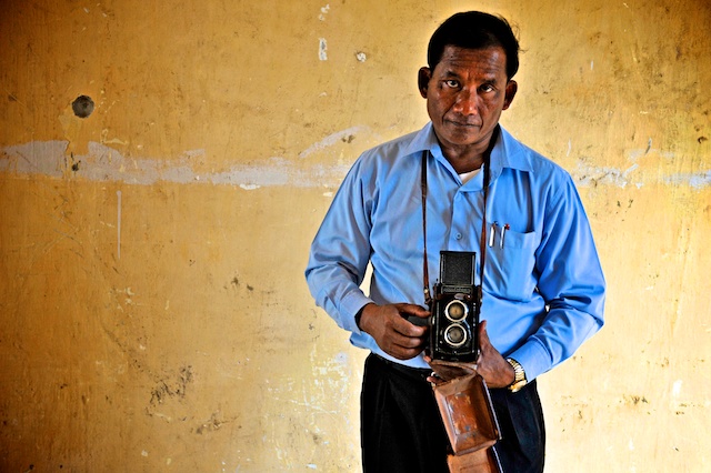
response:
[(360, 333), (356, 314), (372, 302), (360, 289), (370, 259), (371, 191), (361, 157), (341, 183), (311, 244), (306, 270), (316, 303), (341, 328)]

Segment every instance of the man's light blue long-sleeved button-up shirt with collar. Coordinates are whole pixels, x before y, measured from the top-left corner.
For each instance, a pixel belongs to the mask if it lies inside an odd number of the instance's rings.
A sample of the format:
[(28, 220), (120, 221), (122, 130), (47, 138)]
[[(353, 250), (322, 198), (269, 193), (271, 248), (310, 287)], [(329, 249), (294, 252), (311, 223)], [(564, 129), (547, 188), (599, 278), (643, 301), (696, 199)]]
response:
[[(462, 184), (431, 123), (365, 151), (333, 198), (306, 271), (318, 305), (351, 333), (356, 346), (385, 354), (354, 316), (370, 303), (424, 305), (422, 151), (427, 163), (430, 275), (440, 250), (480, 253), (483, 173)], [(604, 278), (590, 224), (571, 177), (503, 128), (491, 152), (481, 319), (493, 346), (523, 366), (529, 381), (568, 359), (603, 324)], [(503, 244), (501, 227), (508, 224)], [(487, 242), (490, 235), (487, 235)], [(477, 256), (479, 265), (479, 254)], [(361, 284), (372, 263), (369, 295)], [(479, 284), (479, 269), (477, 268)]]

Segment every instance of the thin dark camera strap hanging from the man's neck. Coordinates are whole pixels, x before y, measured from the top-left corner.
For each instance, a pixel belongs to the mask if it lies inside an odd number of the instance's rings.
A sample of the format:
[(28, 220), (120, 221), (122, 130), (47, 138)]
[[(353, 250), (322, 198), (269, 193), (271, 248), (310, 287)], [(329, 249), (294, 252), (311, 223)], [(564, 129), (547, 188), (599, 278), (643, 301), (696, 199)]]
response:
[[(479, 308), (481, 308), (481, 299), (483, 296), (483, 284), (484, 284), (484, 261), (487, 259), (487, 198), (489, 195), (489, 182), (491, 180), (491, 151), (493, 150), (497, 140), (499, 139), (499, 125), (494, 128), (493, 133), (491, 133), (491, 139), (489, 140), (489, 147), (487, 151), (484, 151), (483, 155), (483, 194), (484, 194), (484, 208), (483, 215), (481, 219), (481, 239), (479, 241), (479, 293), (477, 294), (477, 323), (479, 323)], [(430, 151), (422, 151), (422, 171), (421, 171), (421, 188), (422, 188), (422, 234), (423, 234), (423, 253), (424, 253), (424, 262), (422, 268), (423, 274), (423, 291), (424, 291), (424, 303), (429, 306), (432, 302), (432, 294), (430, 293), (430, 271), (427, 264), (427, 158)]]

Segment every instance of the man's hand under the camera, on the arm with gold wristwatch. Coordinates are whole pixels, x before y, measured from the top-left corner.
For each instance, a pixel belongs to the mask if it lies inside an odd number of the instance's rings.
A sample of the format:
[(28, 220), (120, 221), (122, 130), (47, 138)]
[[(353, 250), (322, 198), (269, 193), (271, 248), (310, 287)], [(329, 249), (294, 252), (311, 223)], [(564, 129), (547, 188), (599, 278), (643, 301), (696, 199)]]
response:
[(481, 353), (475, 363), (432, 360), (424, 358), (437, 376), (430, 376), (428, 381), (434, 384), (460, 378), (473, 372), (481, 374), (489, 388), (507, 388), (515, 378), (513, 368), (493, 348), (487, 333), (487, 321), (479, 324), (479, 348)]

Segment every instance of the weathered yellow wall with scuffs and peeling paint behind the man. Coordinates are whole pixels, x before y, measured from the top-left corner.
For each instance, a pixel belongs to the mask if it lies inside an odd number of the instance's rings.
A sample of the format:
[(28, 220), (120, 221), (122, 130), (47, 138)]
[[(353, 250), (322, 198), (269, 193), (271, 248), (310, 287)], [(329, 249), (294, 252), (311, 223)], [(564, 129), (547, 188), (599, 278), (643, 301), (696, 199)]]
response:
[(707, 0), (2, 2), (0, 471), (358, 471), (364, 353), (309, 244), (474, 8), (520, 26), (503, 123), (575, 178), (610, 288), (540, 379), (548, 471), (709, 471)]

